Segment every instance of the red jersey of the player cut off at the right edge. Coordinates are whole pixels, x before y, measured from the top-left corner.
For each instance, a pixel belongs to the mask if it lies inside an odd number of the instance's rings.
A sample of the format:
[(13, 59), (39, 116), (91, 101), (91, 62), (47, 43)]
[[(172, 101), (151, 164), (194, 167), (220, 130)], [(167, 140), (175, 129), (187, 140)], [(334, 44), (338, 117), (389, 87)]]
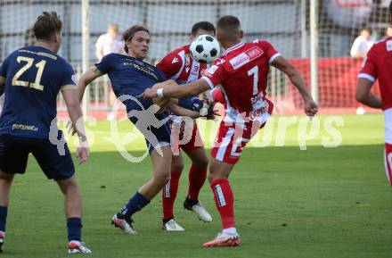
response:
[(358, 78), (379, 79), (382, 109), (392, 108), (392, 37), (374, 44), (363, 61)]

